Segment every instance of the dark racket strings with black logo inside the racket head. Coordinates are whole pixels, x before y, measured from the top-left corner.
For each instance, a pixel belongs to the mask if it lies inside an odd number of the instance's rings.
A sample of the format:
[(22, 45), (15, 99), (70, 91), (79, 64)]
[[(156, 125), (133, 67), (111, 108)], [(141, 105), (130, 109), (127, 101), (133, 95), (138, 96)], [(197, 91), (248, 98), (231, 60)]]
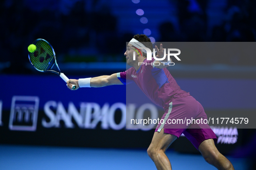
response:
[(51, 69), (55, 63), (52, 47), (43, 40), (37, 41), (35, 45), (36, 51), (30, 54), (31, 63), (42, 71)]

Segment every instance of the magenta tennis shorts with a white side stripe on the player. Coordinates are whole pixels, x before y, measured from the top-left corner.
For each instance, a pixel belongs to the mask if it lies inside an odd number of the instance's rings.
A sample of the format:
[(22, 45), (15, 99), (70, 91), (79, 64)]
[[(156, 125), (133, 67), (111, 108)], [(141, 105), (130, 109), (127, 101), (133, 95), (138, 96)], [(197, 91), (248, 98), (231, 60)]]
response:
[(217, 142), (215, 133), (207, 124), (204, 108), (192, 96), (172, 101), (169, 108), (165, 110), (162, 120), (155, 132), (164, 129), (165, 133), (178, 138), (183, 133), (197, 149), (206, 139), (214, 139), (214, 142)]

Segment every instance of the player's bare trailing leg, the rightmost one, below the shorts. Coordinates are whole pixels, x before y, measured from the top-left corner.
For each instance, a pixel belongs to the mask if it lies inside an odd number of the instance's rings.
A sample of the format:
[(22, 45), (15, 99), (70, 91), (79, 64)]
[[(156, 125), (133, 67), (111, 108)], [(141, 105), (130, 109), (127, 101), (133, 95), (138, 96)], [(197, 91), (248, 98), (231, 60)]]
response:
[(234, 170), (231, 162), (217, 150), (213, 139), (203, 141), (199, 145), (198, 150), (203, 155), (205, 161), (216, 167), (218, 170)]

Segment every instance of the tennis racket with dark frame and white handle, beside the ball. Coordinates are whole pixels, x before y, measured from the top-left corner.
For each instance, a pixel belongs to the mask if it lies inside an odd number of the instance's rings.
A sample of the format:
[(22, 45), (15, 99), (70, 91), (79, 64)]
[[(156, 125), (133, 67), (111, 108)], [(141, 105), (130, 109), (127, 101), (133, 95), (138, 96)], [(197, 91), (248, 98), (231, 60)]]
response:
[[(69, 79), (59, 69), (52, 45), (44, 39), (37, 39), (33, 44), (36, 45), (36, 50), (32, 53), (29, 52), (29, 61), (35, 69), (39, 72), (53, 72), (58, 74), (65, 82), (67, 82)], [(56, 65), (58, 72), (52, 70), (54, 64)], [(75, 88), (76, 86), (72, 85), (72, 89)]]

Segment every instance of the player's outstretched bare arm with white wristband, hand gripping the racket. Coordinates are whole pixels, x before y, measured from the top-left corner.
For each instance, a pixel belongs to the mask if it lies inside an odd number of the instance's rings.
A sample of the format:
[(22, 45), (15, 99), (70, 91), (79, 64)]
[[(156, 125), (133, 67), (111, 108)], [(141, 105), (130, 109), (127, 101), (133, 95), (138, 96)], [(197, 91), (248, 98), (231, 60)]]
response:
[(85, 79), (69, 79), (68, 88), (72, 90), (72, 84), (76, 85), (75, 90), (80, 87), (104, 87), (107, 85), (123, 85), (123, 83), (117, 78), (117, 73), (110, 76), (98, 76)]

